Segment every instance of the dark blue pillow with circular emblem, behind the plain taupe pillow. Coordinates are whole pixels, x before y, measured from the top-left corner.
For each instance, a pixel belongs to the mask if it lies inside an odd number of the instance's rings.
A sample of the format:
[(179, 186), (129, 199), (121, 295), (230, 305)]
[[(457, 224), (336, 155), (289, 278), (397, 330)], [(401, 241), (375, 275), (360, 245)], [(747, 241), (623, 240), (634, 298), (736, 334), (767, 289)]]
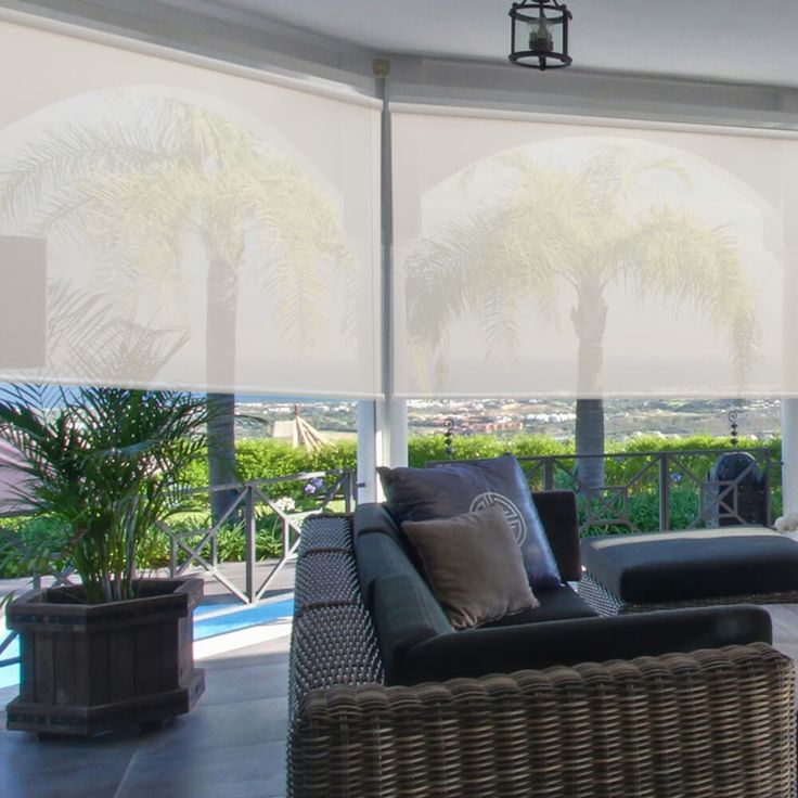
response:
[(451, 518), (498, 504), (513, 529), (533, 591), (562, 580), (524, 472), (512, 454), (492, 460), (441, 463), (432, 468), (377, 468), (386, 506), (404, 520)]

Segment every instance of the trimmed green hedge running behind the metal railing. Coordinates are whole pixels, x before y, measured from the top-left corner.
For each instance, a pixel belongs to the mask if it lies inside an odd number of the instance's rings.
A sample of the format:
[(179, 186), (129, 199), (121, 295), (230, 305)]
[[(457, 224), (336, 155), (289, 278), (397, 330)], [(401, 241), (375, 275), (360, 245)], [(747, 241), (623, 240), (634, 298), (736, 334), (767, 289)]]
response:
[[(765, 443), (742, 438), (741, 448), (767, 448), (771, 451), (771, 499), (772, 515), (775, 518), (781, 514), (781, 440), (774, 439)], [(422, 467), (436, 460), (447, 460), (446, 441), (442, 435), (428, 435), (411, 438), (409, 441), (408, 461), (412, 466)], [(639, 453), (668, 451), (674, 455), (683, 469), (683, 479), (671, 482), (670, 513), (671, 528), (683, 528), (692, 524), (698, 512), (697, 490), (687, 477), (690, 469), (698, 478), (704, 478), (715, 461), (715, 454), (680, 458), (680, 452), (704, 449), (729, 449), (729, 439), (725, 437), (693, 436), (688, 438), (660, 438), (658, 436), (643, 436), (630, 439), (622, 443), (610, 442), (607, 447), (609, 454)], [(492, 458), (512, 452), (519, 458), (541, 455), (574, 454), (572, 441), (557, 441), (538, 435), (519, 435), (510, 439), (497, 439), (491, 436), (469, 436), (454, 438), (454, 456), (458, 460), (477, 458)], [(606, 462), (606, 482), (608, 485), (623, 485), (629, 482), (639, 471), (644, 458), (617, 460), (612, 456)], [(317, 452), (307, 452), (303, 449), (293, 449), (291, 445), (273, 440), (242, 440), (236, 445), (237, 477), (242, 481), (291, 476), (304, 472), (350, 469), (355, 471), (357, 463), (357, 446), (355, 441), (345, 440), (330, 443)], [(574, 461), (565, 461), (563, 471), (555, 474), (555, 487), (572, 487), (572, 478), (568, 474)], [(678, 469), (674, 468), (678, 473)], [(194, 488), (208, 485), (207, 465), (193, 466), (185, 474), (188, 484)], [(542, 474), (530, 475), (533, 487), (541, 487)], [(285, 482), (275, 486), (270, 492), (272, 497), (292, 497), (298, 507), (310, 507), (316, 501), (305, 493), (306, 482)], [(642, 530), (657, 529), (659, 525), (658, 510), (658, 469), (653, 465), (644, 478), (636, 479), (630, 490), (630, 509), (636, 526)], [(197, 495), (196, 513), (188, 514), (183, 519), (188, 527), (207, 526), (207, 497)], [(273, 556), (279, 549), (279, 530), (275, 526), (275, 516), (267, 512), (258, 519), (258, 555)], [(181, 522), (182, 523), (182, 522)], [(56, 552), (64, 530), (55, 529), (46, 518), (20, 519), (8, 518), (0, 520), (0, 526), (13, 529), (22, 542), (35, 545), (44, 543), (44, 549)], [(232, 526), (232, 525), (231, 525)], [(602, 532), (604, 530), (596, 529)], [(621, 531), (621, 530), (616, 530)], [(233, 528), (222, 530), (219, 535), (219, 553), (223, 559), (240, 559), (243, 556), (243, 535)], [(140, 567), (158, 567), (166, 564), (168, 546), (164, 536), (154, 536), (151, 544), (140, 562)], [(15, 549), (0, 551), (0, 577), (22, 576), (26, 572)]]

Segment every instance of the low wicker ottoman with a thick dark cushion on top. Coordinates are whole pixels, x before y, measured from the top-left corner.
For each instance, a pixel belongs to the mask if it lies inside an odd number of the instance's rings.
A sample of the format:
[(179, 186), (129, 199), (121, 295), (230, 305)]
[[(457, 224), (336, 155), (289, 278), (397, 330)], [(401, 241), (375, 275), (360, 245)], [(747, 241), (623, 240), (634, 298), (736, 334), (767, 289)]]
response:
[(798, 542), (765, 527), (585, 538), (581, 556), (579, 594), (602, 615), (798, 602)]

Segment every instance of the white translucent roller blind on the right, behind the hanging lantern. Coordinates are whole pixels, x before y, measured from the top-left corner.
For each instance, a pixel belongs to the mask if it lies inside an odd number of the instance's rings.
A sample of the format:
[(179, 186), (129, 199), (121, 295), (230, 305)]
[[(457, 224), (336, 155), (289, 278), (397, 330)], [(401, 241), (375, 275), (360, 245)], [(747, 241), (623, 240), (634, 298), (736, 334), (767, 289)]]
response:
[(398, 395), (798, 391), (794, 134), (407, 105), (392, 142)]

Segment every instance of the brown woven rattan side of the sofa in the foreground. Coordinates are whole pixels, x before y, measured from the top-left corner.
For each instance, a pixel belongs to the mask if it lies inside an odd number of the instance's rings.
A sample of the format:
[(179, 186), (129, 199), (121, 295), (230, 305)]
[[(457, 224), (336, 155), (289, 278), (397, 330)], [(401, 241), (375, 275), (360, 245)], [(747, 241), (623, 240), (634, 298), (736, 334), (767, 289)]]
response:
[(794, 796), (793, 664), (755, 643), (456, 679), (311, 690), (295, 798)]

